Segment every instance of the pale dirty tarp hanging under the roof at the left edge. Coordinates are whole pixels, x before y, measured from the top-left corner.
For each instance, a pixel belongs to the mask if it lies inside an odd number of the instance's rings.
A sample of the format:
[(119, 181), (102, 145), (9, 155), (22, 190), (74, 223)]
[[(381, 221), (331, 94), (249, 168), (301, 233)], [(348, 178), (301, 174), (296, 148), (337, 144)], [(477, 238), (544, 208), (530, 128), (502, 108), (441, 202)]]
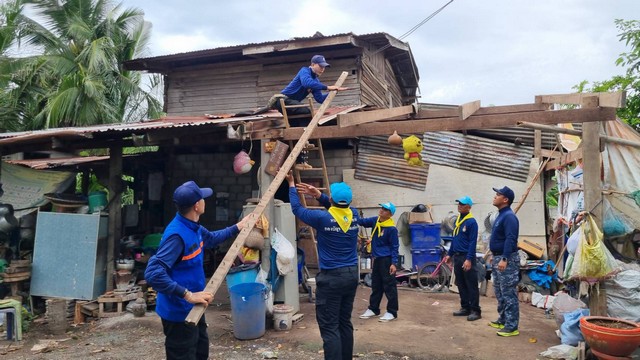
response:
[(0, 197), (0, 203), (13, 205), (17, 218), (46, 204), (49, 200), (44, 194), (62, 192), (75, 179), (71, 172), (33, 170), (6, 162), (2, 162), (1, 168), (4, 195)]

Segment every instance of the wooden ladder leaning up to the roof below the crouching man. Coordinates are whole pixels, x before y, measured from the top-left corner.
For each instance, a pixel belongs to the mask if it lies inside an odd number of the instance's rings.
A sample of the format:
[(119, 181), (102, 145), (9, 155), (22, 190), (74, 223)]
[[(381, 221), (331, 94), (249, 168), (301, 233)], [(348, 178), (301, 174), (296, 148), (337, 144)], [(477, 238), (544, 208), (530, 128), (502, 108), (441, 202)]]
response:
[[(289, 119), (302, 118), (302, 117), (308, 116), (308, 115), (288, 115), (287, 109), (308, 107), (311, 112), (311, 117), (313, 118), (316, 115), (315, 109), (313, 107), (313, 99), (311, 97), (307, 97), (307, 100), (309, 101), (309, 104), (285, 105), (284, 99), (280, 99), (280, 108), (282, 109), (282, 113), (283, 113), (282, 116), (284, 117), (285, 126), (287, 128), (290, 127)], [(293, 149), (293, 145), (294, 145), (293, 141), (289, 141), (289, 146), (291, 149)], [(318, 156), (314, 157), (313, 159), (313, 163), (316, 166), (311, 165), (307, 162), (309, 159), (310, 152), (318, 154)], [(322, 177), (320, 178), (320, 182), (318, 183), (317, 181), (313, 181), (315, 182), (315, 184), (312, 184), (312, 185), (316, 186), (318, 190), (325, 192), (327, 195), (331, 196), (331, 192), (329, 190), (329, 174), (327, 173), (327, 163), (325, 161), (324, 150), (322, 148), (322, 140), (314, 139), (314, 140), (307, 141), (302, 148), (301, 155), (305, 157), (305, 164), (311, 165), (311, 166), (308, 168), (299, 167), (298, 164), (293, 166), (293, 175), (294, 175), (294, 178), (296, 179), (296, 183), (309, 182), (305, 180), (310, 180), (310, 179), (316, 180), (318, 172), (322, 171)], [(304, 196), (303, 194), (299, 194), (299, 196), (300, 196), (300, 202), (304, 207), (309, 209), (325, 210), (325, 207), (319, 204), (309, 204), (306, 196)], [(307, 266), (312, 268), (318, 268), (319, 266), (318, 241), (316, 239), (315, 230), (311, 226), (300, 221), (299, 219), (296, 219), (296, 236), (298, 237), (298, 240), (301, 243), (302, 249), (305, 251), (305, 257), (306, 257), (305, 261)], [(311, 244), (306, 243), (307, 241), (310, 241)], [(310, 254), (309, 250), (312, 250), (313, 253)]]

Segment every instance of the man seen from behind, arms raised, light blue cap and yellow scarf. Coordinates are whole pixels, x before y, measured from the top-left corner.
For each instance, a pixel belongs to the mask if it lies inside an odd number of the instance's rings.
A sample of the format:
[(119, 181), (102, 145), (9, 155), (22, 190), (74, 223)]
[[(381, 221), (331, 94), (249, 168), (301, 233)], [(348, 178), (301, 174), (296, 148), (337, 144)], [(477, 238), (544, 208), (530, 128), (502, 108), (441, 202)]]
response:
[(307, 209), (300, 203), (291, 172), (289, 201), (295, 216), (317, 231), (316, 320), (322, 336), (324, 358), (351, 360), (353, 324), (351, 311), (358, 289), (358, 212), (349, 207), (351, 188), (345, 183), (330, 186), (331, 198), (316, 187), (298, 184), (298, 190), (320, 201), (327, 210)]

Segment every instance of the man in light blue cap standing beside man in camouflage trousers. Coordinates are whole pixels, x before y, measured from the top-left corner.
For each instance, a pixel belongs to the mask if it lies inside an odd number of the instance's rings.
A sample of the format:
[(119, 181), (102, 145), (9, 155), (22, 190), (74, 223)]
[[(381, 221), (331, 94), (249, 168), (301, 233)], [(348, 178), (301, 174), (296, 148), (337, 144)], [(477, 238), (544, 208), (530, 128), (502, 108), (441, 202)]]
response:
[(453, 241), (445, 257), (446, 262), (453, 259), (453, 273), (460, 293), (460, 310), (455, 311), (453, 316), (466, 316), (468, 321), (475, 321), (482, 318), (476, 270), (478, 223), (471, 214), (473, 200), (463, 196), (456, 201), (459, 214), (453, 229)]

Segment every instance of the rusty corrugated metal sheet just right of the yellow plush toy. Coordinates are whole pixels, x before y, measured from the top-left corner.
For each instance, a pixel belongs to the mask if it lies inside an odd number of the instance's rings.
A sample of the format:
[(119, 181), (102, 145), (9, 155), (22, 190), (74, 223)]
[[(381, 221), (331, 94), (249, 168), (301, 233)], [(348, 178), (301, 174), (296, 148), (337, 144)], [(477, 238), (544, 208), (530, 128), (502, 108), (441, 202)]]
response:
[(515, 146), (450, 131), (427, 132), (423, 138), (425, 161), (433, 164), (526, 181), (533, 148)]

